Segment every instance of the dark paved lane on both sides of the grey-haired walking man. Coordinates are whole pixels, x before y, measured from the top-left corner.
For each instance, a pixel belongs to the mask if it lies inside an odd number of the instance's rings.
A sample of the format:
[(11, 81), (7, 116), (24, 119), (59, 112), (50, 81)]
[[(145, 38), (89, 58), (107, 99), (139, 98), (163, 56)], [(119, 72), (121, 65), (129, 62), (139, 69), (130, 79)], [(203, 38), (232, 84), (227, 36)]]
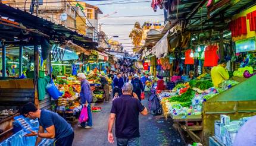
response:
[[(143, 100), (143, 104), (148, 104)], [(77, 124), (74, 127), (74, 146), (81, 145), (111, 145), (107, 141), (107, 122), (112, 103), (101, 103), (100, 113), (93, 113), (93, 128), (80, 129)], [(173, 128), (170, 120), (164, 119), (162, 116), (142, 116), (139, 117), (142, 146), (157, 145), (185, 145), (180, 138), (179, 133)], [(113, 129), (114, 130), (114, 129)], [(114, 144), (116, 145), (116, 143)]]

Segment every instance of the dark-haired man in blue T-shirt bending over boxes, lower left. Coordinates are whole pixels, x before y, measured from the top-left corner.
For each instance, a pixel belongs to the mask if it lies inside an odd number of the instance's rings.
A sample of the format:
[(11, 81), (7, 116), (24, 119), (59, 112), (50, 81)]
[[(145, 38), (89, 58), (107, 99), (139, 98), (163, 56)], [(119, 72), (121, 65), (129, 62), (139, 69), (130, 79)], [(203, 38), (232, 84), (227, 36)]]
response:
[(38, 145), (42, 138), (55, 138), (56, 146), (72, 145), (74, 131), (70, 124), (57, 113), (49, 110), (40, 110), (35, 104), (26, 103), (21, 109), (21, 114), (33, 120), (38, 118), (39, 131), (31, 131), (30, 134), (26, 135), (26, 137), (37, 137), (35, 145)]

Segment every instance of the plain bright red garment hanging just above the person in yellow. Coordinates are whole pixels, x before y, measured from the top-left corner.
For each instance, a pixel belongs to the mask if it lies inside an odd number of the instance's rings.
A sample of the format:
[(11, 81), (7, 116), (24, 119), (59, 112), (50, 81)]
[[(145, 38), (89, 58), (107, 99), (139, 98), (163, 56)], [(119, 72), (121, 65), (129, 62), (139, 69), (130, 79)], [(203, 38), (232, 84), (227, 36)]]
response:
[(218, 55), (217, 46), (207, 46), (204, 52), (204, 66), (217, 66), (218, 65)]

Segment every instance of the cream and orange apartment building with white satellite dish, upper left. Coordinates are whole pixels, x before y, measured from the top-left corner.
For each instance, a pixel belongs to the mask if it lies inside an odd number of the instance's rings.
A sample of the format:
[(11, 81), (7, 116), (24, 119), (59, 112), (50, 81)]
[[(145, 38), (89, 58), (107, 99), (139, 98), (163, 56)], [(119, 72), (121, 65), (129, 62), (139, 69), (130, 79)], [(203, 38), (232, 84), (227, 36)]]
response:
[(27, 12), (31, 12), (33, 6), (34, 15), (62, 24), (92, 38), (94, 42), (98, 40), (98, 14), (102, 14), (102, 11), (93, 5), (71, 0), (39, 0), (38, 7), (26, 0), (7, 0), (5, 3)]

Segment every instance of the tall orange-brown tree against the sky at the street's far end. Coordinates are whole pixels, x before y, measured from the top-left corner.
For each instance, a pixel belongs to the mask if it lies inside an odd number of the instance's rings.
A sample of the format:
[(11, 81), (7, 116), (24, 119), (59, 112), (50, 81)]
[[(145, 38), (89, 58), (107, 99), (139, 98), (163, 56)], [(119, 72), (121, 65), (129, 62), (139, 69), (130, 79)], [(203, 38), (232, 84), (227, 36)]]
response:
[(135, 47), (138, 47), (141, 45), (142, 34), (143, 34), (143, 30), (141, 28), (141, 25), (139, 24), (139, 22), (136, 22), (134, 25), (134, 28), (129, 34), (129, 37), (132, 39), (132, 43)]

